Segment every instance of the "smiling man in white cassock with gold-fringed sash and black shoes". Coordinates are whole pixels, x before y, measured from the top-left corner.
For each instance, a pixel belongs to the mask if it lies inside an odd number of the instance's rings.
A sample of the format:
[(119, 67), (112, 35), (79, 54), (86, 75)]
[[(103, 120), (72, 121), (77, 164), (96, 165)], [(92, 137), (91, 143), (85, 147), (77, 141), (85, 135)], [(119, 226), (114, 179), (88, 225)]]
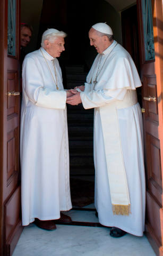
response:
[(142, 236), (145, 215), (142, 114), (136, 96), (141, 86), (130, 54), (113, 39), (106, 23), (89, 30), (98, 55), (85, 85), (67, 103), (95, 108), (95, 206), (110, 235)]

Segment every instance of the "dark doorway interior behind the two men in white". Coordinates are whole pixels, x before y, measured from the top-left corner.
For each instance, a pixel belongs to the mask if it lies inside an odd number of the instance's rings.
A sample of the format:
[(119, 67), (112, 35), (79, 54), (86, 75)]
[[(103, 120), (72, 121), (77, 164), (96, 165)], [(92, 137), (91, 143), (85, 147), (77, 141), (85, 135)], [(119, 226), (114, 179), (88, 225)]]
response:
[[(130, 25), (135, 28), (134, 30), (130, 30), (130, 33), (133, 33), (132, 36), (129, 36), (129, 33), (126, 33), (125, 36), (127, 36), (128, 39), (125, 41), (124, 36), (122, 40), (123, 29), (124, 31), (128, 31), (126, 30), (128, 22), (125, 22), (125, 19), (129, 19), (127, 17), (130, 17), (130, 19), (132, 17), (136, 18), (136, 5), (131, 7), (130, 10), (123, 12), (123, 19), (121, 21), (119, 13), (106, 1), (100, 1), (100, 3), (99, 1), (93, 1), (93, 4), (90, 1), (90, 4), (87, 3), (87, 10), (85, 9), (86, 2), (87, 1), (76, 2), (73, 0), (67, 2), (63, 1), (62, 9), (61, 2), (59, 1), (46, 0), (43, 2), (40, 1), (39, 5), (37, 3), (36, 7), (33, 5), (32, 11), (34, 13), (35, 8), (38, 8), (39, 10), (39, 15), (35, 17), (35, 22), (33, 23), (38, 30), (38, 33), (37, 36), (34, 34), (36, 38), (32, 39), (31, 44), (29, 45), (29, 51), (39, 48), (41, 34), (47, 28), (55, 27), (57, 29), (65, 30), (68, 34), (66, 41), (67, 50), (61, 55), (61, 58), (59, 58), (60, 65), (64, 71), (64, 86), (67, 89), (75, 87), (76, 85), (81, 85), (85, 81), (88, 70), (97, 54), (95, 49), (89, 45), (88, 34), (86, 31), (89, 30), (93, 23), (96, 23), (99, 20), (102, 22), (107, 21), (110, 26), (113, 27), (115, 39), (123, 44), (127, 50), (132, 51), (132, 57), (134, 58), (136, 65), (139, 66), (139, 49), (138, 44), (136, 45), (136, 42), (138, 41), (129, 40), (130, 38), (133, 38), (133, 36), (138, 37), (138, 30), (136, 30), (138, 24), (135, 23), (135, 19), (130, 20)], [(31, 4), (30, 1), (28, 4)], [(50, 10), (49, 6), (51, 7)], [(70, 8), (70, 6), (73, 6), (73, 9)], [(25, 10), (23, 11), (23, 9)], [(31, 10), (27, 8), (27, 3), (25, 3), (24, 0), (22, 0), (21, 10), (21, 21), (28, 22), (32, 25), (34, 14), (32, 15)], [(28, 10), (30, 10), (30, 13)], [(61, 11), (58, 12), (58, 10)], [(83, 17), (85, 18), (83, 19)], [(122, 31), (121, 23), (123, 28)], [(74, 33), (75, 45), (74, 43), (71, 43), (74, 41)], [(141, 95), (141, 92), (139, 94)], [(95, 170), (93, 166), (93, 110), (84, 110), (81, 105), (78, 107), (67, 106), (67, 114), (70, 139), (72, 197), (75, 202), (74, 206), (79, 207), (79, 205), (82, 205), (81, 197), (85, 198), (85, 202), (93, 201), (92, 191), (94, 184), (92, 185), (92, 183), (95, 180)], [(76, 193), (76, 189), (78, 189), (78, 193)], [(85, 192), (81, 193), (80, 191)], [(86, 198), (85, 194), (91, 195), (91, 198)], [(77, 199), (76, 196), (78, 197)]]

